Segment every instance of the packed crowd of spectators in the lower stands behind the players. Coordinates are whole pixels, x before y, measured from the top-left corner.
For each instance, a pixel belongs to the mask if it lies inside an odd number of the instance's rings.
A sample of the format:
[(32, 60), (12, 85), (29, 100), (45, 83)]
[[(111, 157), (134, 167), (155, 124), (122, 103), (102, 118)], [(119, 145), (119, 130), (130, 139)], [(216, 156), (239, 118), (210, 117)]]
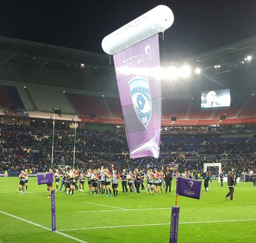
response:
[[(33, 172), (44, 172), (51, 164), (73, 165), (76, 168), (100, 168), (114, 166), (118, 170), (141, 168), (161, 169), (163, 164), (172, 161), (172, 157), (130, 159), (127, 142), (113, 132), (97, 132), (96, 130), (76, 129), (76, 153), (74, 158), (74, 129), (56, 129), (26, 127), (23, 125), (0, 124), (0, 171), (20, 171), (29, 168)], [(52, 140), (54, 153), (52, 157)], [(205, 161), (200, 154), (221, 155), (246, 154), (246, 159), (227, 159), (221, 161), (223, 171), (237, 173), (255, 171), (256, 142), (221, 142), (206, 143), (193, 146), (193, 150), (183, 150), (186, 144), (177, 142), (161, 145), (161, 152), (198, 152), (197, 159), (179, 159), (179, 171), (203, 171), (204, 162), (220, 162), (218, 159)], [(218, 173), (216, 168), (211, 173)], [(217, 172), (216, 172), (217, 171)]]

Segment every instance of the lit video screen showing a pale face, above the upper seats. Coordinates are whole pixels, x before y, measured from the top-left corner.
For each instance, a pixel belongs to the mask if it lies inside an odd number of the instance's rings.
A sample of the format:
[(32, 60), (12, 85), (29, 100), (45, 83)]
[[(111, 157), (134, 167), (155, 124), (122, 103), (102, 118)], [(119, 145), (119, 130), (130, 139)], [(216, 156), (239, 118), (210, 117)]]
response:
[(201, 108), (227, 106), (230, 106), (230, 89), (202, 91)]

